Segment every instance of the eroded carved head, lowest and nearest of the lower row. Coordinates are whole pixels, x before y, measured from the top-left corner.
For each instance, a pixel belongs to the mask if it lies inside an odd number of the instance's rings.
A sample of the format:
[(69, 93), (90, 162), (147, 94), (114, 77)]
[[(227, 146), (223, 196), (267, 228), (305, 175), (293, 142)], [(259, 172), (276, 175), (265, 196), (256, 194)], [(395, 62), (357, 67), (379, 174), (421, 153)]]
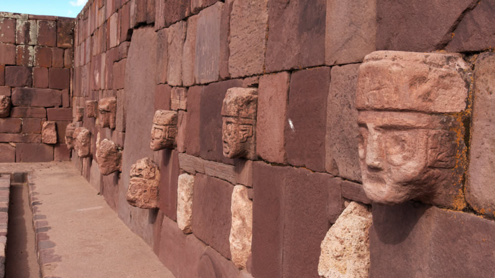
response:
[(158, 166), (148, 157), (139, 159), (131, 166), (130, 176), (127, 202), (144, 209), (158, 208), (158, 184), (160, 182)]

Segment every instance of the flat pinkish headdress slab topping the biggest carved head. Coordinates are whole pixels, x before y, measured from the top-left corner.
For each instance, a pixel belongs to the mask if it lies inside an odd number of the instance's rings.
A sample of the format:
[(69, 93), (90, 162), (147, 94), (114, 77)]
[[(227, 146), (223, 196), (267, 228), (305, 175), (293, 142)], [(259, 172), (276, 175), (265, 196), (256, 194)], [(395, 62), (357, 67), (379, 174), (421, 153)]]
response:
[(356, 108), (460, 112), (468, 69), (457, 54), (373, 52), (359, 67)]

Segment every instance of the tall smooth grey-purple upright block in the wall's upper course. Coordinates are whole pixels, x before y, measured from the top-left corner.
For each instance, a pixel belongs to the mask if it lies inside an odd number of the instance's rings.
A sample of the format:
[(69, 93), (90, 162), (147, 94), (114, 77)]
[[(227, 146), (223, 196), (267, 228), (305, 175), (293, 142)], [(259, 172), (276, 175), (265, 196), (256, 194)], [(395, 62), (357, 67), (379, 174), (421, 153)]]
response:
[(220, 77), (222, 7), (223, 3), (217, 2), (203, 9), (198, 15), (194, 76), (199, 84), (214, 82)]

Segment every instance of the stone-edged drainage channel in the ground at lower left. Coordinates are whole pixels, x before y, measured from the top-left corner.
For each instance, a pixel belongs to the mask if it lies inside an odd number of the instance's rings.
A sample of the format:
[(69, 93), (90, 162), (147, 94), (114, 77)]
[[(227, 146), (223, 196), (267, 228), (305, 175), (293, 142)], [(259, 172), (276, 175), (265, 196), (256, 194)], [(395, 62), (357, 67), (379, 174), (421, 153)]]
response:
[(42, 276), (32, 188), (26, 173), (0, 174), (0, 278)]

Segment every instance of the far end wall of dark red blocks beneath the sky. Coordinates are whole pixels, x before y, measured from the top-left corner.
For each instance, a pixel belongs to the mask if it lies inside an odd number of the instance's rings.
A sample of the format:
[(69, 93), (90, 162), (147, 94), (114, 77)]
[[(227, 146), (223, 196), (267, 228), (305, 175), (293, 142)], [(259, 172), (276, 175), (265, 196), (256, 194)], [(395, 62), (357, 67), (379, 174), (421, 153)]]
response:
[(0, 13), (0, 162), (70, 159), (73, 27), (72, 18)]

